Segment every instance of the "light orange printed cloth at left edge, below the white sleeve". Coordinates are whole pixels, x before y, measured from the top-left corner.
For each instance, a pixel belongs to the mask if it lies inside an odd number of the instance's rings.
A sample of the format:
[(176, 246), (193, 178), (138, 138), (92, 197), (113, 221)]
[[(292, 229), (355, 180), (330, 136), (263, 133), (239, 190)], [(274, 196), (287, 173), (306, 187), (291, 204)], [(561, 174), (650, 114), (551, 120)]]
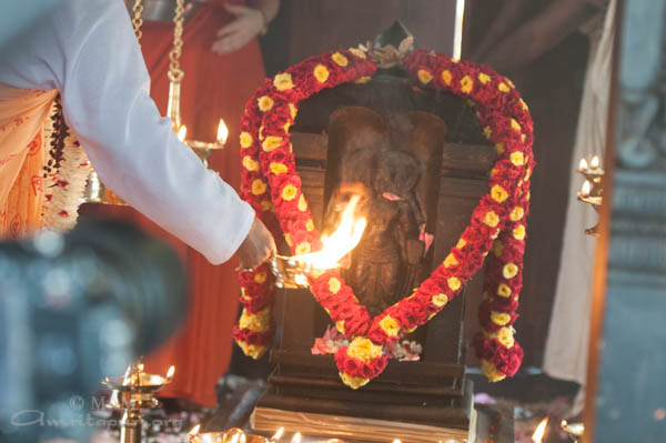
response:
[(40, 228), (42, 129), (56, 94), (0, 84), (0, 239)]

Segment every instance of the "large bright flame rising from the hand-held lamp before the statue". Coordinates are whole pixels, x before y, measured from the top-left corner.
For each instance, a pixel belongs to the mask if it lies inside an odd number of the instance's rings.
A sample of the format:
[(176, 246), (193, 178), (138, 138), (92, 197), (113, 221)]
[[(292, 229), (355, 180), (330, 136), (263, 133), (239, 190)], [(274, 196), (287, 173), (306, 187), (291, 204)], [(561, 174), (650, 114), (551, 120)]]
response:
[(337, 262), (356, 248), (367, 224), (367, 220), (364, 217), (354, 217), (360, 200), (361, 197), (359, 195), (353, 195), (350, 199), (350, 202), (342, 211), (342, 219), (335, 232), (329, 238), (322, 236), (324, 248), (321, 251), (297, 255), (297, 259), (311, 264), (314, 269), (337, 268)]

